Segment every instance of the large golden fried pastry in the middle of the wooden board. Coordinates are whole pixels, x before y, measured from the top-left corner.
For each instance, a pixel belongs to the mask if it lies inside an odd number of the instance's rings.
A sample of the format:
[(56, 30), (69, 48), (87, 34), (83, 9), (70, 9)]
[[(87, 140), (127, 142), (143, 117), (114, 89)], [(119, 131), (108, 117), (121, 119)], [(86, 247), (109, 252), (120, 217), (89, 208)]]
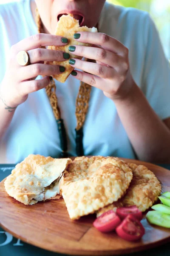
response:
[(132, 180), (132, 170), (114, 157), (76, 157), (60, 185), (72, 220), (117, 201)]

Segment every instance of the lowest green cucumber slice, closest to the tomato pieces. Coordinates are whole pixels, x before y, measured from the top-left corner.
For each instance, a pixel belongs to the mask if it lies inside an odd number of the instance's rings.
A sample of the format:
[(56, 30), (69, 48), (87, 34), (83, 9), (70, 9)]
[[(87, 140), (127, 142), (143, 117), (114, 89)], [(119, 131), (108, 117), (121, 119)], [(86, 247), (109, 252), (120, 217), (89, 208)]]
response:
[(170, 215), (159, 211), (149, 211), (146, 215), (147, 220), (154, 225), (170, 228)]

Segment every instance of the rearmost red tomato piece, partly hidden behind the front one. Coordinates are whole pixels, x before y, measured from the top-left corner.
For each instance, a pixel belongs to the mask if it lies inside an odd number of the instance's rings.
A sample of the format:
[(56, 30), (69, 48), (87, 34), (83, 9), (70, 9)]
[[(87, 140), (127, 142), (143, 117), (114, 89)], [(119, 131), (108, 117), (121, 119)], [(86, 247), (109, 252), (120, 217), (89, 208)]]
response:
[(129, 214), (132, 214), (139, 221), (143, 218), (142, 212), (136, 207), (136, 205), (117, 208), (116, 213), (121, 219), (126, 218)]

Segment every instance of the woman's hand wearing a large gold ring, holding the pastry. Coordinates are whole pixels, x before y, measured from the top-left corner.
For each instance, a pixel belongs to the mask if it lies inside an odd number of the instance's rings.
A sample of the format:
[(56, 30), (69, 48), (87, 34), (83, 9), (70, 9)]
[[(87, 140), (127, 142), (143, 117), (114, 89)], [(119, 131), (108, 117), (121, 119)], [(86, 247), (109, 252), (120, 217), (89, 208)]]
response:
[[(60, 66), (42, 64), (43, 61), (64, 61), (69, 58), (64, 52), (41, 49), (40, 46), (64, 46), (62, 37), (57, 35), (37, 34), (23, 39), (13, 45), (6, 73), (0, 85), (1, 98), (11, 108), (16, 108), (25, 102), (28, 94), (45, 88), (50, 82), (50, 75), (62, 73)], [(66, 40), (66, 38), (65, 38)], [(30, 65), (23, 67), (17, 63), (17, 53), (27, 51)], [(65, 58), (64, 58), (65, 57)], [(35, 80), (39, 75), (45, 76)]]

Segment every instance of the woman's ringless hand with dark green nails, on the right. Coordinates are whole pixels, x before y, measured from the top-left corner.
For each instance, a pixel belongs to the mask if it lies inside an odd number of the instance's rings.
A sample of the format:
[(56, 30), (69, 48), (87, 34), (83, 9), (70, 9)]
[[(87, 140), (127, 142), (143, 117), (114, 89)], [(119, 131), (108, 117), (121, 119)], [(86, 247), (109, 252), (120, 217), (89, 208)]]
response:
[(126, 97), (134, 84), (129, 68), (128, 49), (115, 38), (103, 33), (79, 32), (77, 34), (80, 35), (77, 41), (95, 46), (71, 46), (70, 52), (96, 60), (96, 63), (71, 59), (69, 63), (72, 67), (87, 72), (75, 70), (72, 75), (101, 89), (105, 96), (112, 100)]

